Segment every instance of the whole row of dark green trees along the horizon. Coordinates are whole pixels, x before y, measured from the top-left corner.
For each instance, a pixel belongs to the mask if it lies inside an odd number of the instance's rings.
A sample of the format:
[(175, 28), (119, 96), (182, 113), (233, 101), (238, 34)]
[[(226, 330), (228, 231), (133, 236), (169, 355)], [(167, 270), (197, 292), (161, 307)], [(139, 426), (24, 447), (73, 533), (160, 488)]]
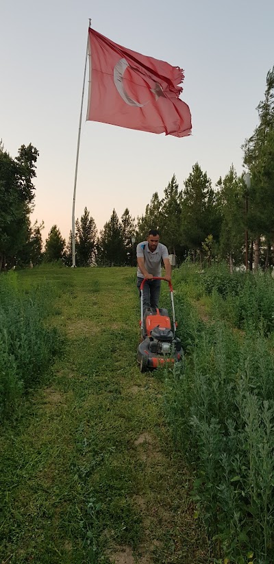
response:
[[(85, 208), (75, 223), (77, 266), (134, 264), (132, 236), (136, 243), (143, 241), (151, 228), (160, 231), (161, 241), (178, 262), (188, 257), (226, 260), (231, 270), (242, 264), (251, 270), (274, 265), (274, 67), (267, 73), (264, 99), (257, 110), (258, 125), (242, 144), (250, 183), (232, 164), (212, 186), (196, 162), (182, 190), (173, 174), (164, 197), (153, 193), (137, 219), (128, 208), (121, 219), (113, 210), (98, 233)], [(53, 225), (42, 251), (43, 224), (30, 225), (37, 158), (32, 145), (22, 145), (14, 159), (0, 145), (0, 269), (42, 260), (71, 265), (71, 234), (66, 243)]]

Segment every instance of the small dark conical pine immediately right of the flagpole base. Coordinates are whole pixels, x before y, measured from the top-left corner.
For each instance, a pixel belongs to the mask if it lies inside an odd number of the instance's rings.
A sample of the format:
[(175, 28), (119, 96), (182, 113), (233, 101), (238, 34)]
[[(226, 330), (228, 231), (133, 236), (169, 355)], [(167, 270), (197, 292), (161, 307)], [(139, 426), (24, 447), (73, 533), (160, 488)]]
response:
[(80, 221), (76, 221), (76, 240), (75, 254), (77, 256), (77, 265), (79, 267), (88, 267), (95, 262), (97, 240), (97, 227), (95, 221), (90, 217), (87, 208), (84, 209)]

